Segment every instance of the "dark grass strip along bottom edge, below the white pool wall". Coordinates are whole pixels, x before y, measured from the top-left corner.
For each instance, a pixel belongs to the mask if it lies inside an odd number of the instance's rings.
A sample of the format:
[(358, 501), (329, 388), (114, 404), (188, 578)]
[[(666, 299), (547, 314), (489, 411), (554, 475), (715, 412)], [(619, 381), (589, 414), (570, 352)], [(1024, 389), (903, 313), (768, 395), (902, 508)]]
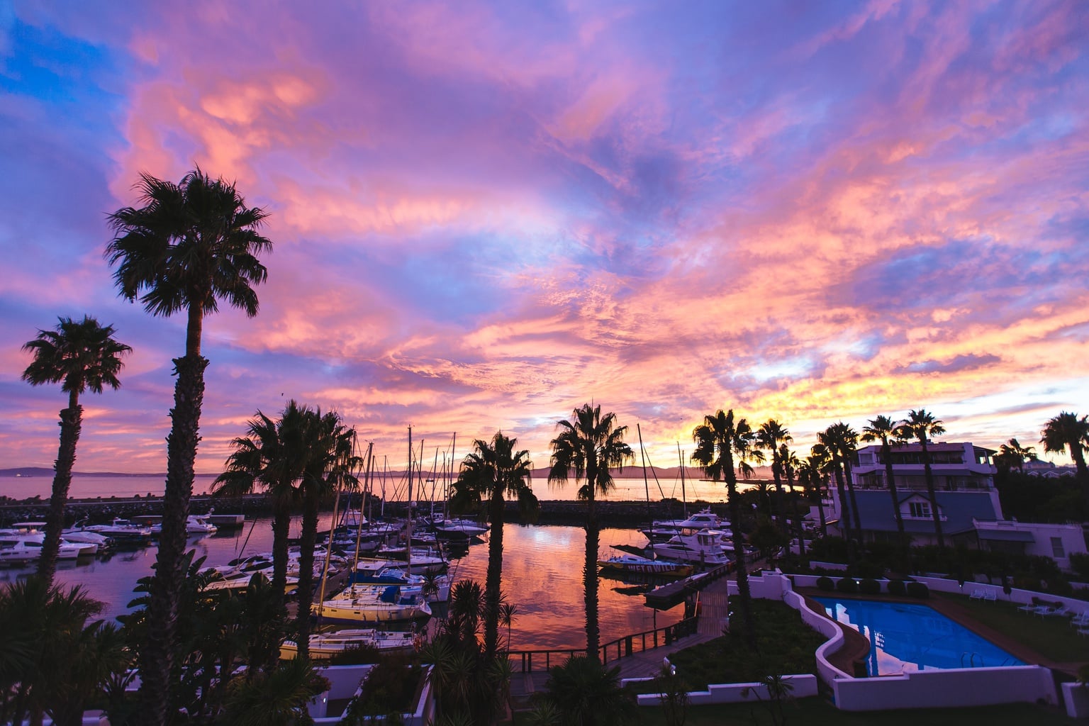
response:
[[(665, 725), (659, 707), (639, 709), (639, 723), (646, 726)], [(1031, 703), (1010, 703), (974, 709), (901, 709), (897, 711), (840, 711), (820, 698), (802, 699), (786, 705), (787, 724), (806, 726), (1078, 726), (1084, 721), (1068, 718), (1065, 711)], [(754, 726), (770, 724), (768, 713), (759, 705), (689, 706), (685, 726)]]

